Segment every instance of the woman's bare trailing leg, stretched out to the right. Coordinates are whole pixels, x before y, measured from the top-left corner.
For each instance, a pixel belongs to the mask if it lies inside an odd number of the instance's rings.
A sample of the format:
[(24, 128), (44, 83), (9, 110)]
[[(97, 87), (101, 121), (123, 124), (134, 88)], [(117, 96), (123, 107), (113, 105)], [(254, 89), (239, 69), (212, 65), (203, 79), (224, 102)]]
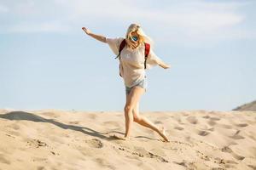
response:
[(165, 129), (164, 127), (157, 127), (154, 125), (154, 123), (150, 122), (146, 117), (144, 116), (140, 116), (139, 114), (139, 102), (137, 103), (136, 107), (133, 108), (132, 110), (133, 113), (133, 120), (134, 122), (137, 122), (138, 124), (144, 126), (144, 127), (148, 127), (152, 130), (154, 130), (155, 132), (159, 133), (160, 136), (166, 141), (168, 142), (169, 140), (166, 137), (166, 133), (165, 133)]

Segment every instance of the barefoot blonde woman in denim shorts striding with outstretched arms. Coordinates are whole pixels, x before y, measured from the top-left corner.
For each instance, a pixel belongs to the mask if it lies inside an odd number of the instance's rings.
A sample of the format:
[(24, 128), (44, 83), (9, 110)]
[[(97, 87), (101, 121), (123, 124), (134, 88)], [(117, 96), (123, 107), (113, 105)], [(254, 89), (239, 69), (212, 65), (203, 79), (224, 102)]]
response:
[[(121, 42), (125, 39), (125, 48), (122, 49), (119, 55), (119, 74), (123, 77), (125, 82), (125, 137), (121, 139), (130, 139), (132, 122), (151, 128), (156, 133), (159, 133), (164, 141), (169, 140), (166, 137), (164, 127), (157, 127), (144, 116), (139, 114), (139, 100), (146, 92), (148, 83), (146, 79), (146, 72), (144, 66), (149, 69), (154, 65), (160, 65), (167, 69), (170, 66), (166, 65), (159, 57), (157, 57), (152, 50), (152, 41), (145, 35), (141, 26), (131, 24), (128, 27), (125, 38), (123, 37), (103, 37), (92, 33), (89, 29), (82, 28), (87, 35), (94, 37), (96, 40), (108, 43), (113, 53), (119, 54), (119, 47)], [(144, 42), (150, 44), (148, 59), (145, 62), (145, 45)], [(145, 65), (144, 65), (145, 64)], [(120, 137), (119, 137), (120, 138)]]

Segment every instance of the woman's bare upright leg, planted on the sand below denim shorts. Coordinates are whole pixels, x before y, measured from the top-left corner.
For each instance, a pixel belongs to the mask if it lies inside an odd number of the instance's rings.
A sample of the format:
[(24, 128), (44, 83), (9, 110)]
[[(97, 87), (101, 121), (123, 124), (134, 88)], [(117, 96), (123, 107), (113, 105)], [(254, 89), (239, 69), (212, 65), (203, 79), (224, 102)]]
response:
[(144, 88), (134, 87), (131, 92), (126, 96), (125, 104), (125, 138), (129, 139), (131, 135), (131, 125), (133, 120), (132, 110), (136, 106), (137, 102), (141, 98), (142, 94), (145, 93)]

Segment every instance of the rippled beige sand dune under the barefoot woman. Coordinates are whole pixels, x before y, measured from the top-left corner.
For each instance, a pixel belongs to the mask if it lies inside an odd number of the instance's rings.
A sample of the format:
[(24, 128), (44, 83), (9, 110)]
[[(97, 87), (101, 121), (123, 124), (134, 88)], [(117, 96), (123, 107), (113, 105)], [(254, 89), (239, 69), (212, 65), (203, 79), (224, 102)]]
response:
[(0, 110), (0, 169), (256, 169), (256, 112), (141, 112), (169, 143), (123, 112)]

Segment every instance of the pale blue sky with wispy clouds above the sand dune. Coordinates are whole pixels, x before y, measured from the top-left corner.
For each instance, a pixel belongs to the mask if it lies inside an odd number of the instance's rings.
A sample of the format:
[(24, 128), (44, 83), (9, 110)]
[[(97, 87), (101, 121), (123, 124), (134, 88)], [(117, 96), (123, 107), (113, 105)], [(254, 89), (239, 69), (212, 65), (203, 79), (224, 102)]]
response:
[(147, 72), (141, 111), (229, 111), (256, 99), (255, 1), (0, 0), (0, 108), (123, 111), (108, 44), (139, 23), (172, 67)]

